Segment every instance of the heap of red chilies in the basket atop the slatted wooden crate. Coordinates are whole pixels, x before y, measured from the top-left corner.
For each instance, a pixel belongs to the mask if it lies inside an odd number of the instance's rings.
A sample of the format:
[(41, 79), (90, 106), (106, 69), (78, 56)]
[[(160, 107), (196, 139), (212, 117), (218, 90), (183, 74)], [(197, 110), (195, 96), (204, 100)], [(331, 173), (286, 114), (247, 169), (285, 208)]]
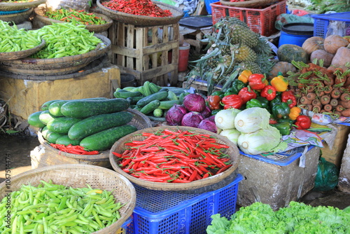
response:
[(106, 8), (132, 15), (145, 15), (151, 17), (169, 17), (172, 13), (163, 10), (150, 0), (110, 0), (102, 3)]

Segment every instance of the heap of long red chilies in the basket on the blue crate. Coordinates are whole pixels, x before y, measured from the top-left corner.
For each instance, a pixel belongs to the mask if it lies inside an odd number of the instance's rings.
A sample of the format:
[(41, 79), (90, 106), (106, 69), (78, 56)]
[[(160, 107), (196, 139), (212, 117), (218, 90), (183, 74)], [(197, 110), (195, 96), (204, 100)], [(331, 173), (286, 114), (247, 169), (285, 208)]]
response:
[(119, 166), (139, 179), (163, 183), (189, 183), (228, 170), (230, 156), (222, 152), (229, 146), (214, 137), (188, 131), (144, 132), (142, 141), (125, 143), (123, 153), (112, 152)]

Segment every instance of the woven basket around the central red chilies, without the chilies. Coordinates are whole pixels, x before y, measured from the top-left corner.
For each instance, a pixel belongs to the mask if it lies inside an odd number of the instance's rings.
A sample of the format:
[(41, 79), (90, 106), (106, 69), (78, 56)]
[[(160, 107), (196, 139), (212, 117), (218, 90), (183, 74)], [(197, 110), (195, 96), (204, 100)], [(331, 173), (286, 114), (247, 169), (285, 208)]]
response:
[[(113, 155), (112, 152), (118, 152), (123, 153), (124, 143), (130, 141), (130, 138), (137, 136), (136, 139), (144, 139), (146, 137), (142, 137), (142, 132), (158, 132), (159, 130), (188, 130), (189, 132), (199, 132), (204, 134), (213, 135), (218, 139), (218, 142), (221, 144), (226, 144), (230, 146), (228, 150), (231, 150), (232, 153), (230, 153), (231, 157), (231, 163), (232, 167), (228, 168), (228, 170), (225, 170), (225, 172), (221, 172), (220, 174), (216, 174), (213, 177), (207, 177), (205, 179), (200, 179), (197, 181), (192, 181), (190, 183), (161, 183), (161, 182), (153, 182), (153, 181), (145, 181), (142, 179), (138, 179), (136, 177), (133, 177), (130, 174), (127, 174), (124, 172), (119, 166), (118, 166), (118, 159), (116, 156)], [(202, 188), (204, 186), (210, 186), (213, 184), (218, 183), (219, 181), (223, 181), (223, 179), (226, 179), (229, 177), (238, 167), (239, 163), (239, 150), (237, 146), (231, 142), (228, 138), (223, 137), (221, 135), (218, 135), (214, 132), (210, 132), (208, 130), (202, 130), (200, 128), (192, 128), (192, 127), (184, 127), (184, 126), (161, 126), (161, 127), (154, 127), (154, 128), (147, 128), (144, 130), (139, 130), (137, 132), (132, 132), (130, 135), (127, 135), (116, 142), (111, 148), (111, 151), (109, 153), (109, 160), (111, 161), (111, 165), (116, 172), (123, 174), (127, 179), (132, 181), (132, 183), (137, 184), (139, 186), (142, 186), (144, 188), (152, 189), (152, 190), (160, 190), (160, 191), (188, 191), (188, 190), (195, 190), (197, 188)]]

